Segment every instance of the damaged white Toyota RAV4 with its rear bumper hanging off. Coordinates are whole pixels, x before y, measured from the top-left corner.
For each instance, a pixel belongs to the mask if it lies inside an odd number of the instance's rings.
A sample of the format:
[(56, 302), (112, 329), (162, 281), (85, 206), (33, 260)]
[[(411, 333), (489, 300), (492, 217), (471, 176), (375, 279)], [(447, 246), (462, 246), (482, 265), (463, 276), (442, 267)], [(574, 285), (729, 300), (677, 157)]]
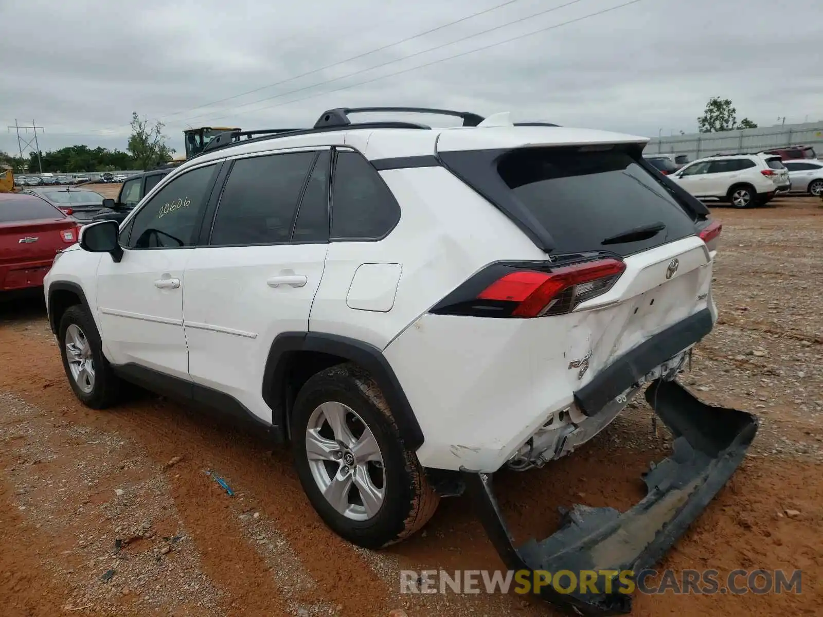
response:
[[(463, 126), (349, 119), (374, 111)], [(222, 133), (55, 260), (69, 383), (95, 408), (126, 380), (253, 420), (291, 443), (319, 516), (357, 545), (402, 540), (466, 493), (509, 568), (649, 567), (757, 423), (675, 381), (716, 321), (720, 226), (644, 160), (646, 141), (409, 108)], [(576, 505), (515, 546), (492, 474), (572, 452), (643, 387), (675, 436), (647, 496), (624, 513)], [(604, 587), (541, 595), (630, 610)]]

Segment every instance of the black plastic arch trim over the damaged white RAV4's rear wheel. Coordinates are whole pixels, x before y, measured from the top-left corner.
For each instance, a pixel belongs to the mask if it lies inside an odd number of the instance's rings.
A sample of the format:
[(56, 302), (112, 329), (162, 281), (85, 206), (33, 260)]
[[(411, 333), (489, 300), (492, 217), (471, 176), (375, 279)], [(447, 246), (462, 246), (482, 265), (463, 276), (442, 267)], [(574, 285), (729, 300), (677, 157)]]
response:
[(282, 332), (268, 352), (263, 372), (263, 400), (272, 408), (272, 423), (287, 433), (289, 397), (288, 372), (295, 352), (314, 351), (349, 360), (369, 371), (383, 391), (403, 443), (416, 450), (423, 444), (423, 431), (406, 393), (383, 352), (377, 347), (347, 336), (323, 332)]

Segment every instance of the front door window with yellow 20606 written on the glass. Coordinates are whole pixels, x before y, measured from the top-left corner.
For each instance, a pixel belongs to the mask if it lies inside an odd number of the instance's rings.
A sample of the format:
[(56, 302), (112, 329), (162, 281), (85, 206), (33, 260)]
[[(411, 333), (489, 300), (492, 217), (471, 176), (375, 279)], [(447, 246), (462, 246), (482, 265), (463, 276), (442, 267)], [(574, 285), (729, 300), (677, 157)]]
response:
[(193, 169), (160, 190), (134, 216), (129, 248), (193, 246), (216, 165)]

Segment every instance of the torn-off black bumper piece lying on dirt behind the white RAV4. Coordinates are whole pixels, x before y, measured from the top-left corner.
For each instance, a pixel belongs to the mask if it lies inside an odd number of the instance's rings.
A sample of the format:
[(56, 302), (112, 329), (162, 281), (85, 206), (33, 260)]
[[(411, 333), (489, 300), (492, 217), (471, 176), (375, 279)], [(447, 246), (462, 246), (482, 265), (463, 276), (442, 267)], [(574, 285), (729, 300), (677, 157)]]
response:
[[(586, 571), (639, 573), (651, 568), (726, 484), (757, 432), (755, 416), (706, 405), (675, 382), (653, 382), (646, 399), (675, 440), (671, 456), (644, 473), (646, 497), (625, 513), (577, 504), (565, 512), (560, 530), (552, 536), (515, 548), (491, 475), (463, 472), (467, 492), (476, 500), (486, 533), (507, 568), (531, 571), (532, 581), (535, 571), (565, 570), (578, 582)], [(602, 578), (597, 578), (595, 591), (580, 584), (564, 589), (568, 580), (560, 587), (564, 592), (551, 584), (532, 592), (577, 615), (625, 615), (631, 610), (631, 597), (618, 591), (616, 577), (611, 593)]]

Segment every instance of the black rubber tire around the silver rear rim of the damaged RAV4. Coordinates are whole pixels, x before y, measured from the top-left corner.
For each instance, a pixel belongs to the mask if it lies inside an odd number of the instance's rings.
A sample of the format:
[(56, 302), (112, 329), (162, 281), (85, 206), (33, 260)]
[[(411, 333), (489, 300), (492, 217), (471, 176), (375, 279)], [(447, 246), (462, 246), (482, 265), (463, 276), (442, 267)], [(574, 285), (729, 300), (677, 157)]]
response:
[[(309, 466), (306, 440), (309, 421), (316, 427), (319, 416), (315, 411), (328, 402), (354, 411), (379, 446), (384, 497), (377, 513), (365, 520), (353, 520), (332, 506)], [(353, 434), (356, 436), (360, 420), (351, 414), (349, 417), (349, 422), (355, 423)], [(330, 429), (329, 424), (323, 424), (325, 435), (330, 435)], [(403, 445), (383, 393), (370, 374), (355, 364), (325, 369), (309, 378), (300, 389), (291, 416), (291, 446), (300, 483), (314, 509), (328, 527), (356, 545), (379, 549), (403, 540), (423, 527), (435, 513), (439, 495), (429, 484), (416, 454)], [(325, 461), (322, 464), (332, 469), (340, 465), (334, 461), (330, 465)]]

